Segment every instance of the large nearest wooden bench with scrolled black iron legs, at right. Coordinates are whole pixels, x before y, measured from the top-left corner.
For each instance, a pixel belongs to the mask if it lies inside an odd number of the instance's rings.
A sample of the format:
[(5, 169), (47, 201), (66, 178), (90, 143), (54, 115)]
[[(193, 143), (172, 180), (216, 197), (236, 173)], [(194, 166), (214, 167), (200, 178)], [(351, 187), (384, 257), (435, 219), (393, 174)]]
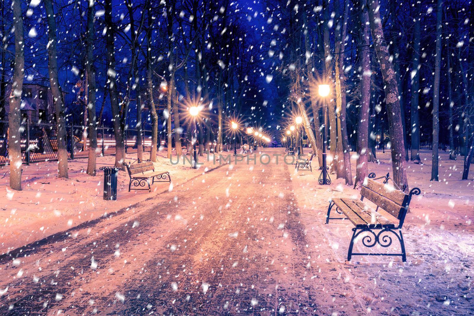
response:
[[(329, 223), (329, 219), (348, 219), (354, 224), (352, 228), (353, 234), (349, 244), (349, 250), (347, 252), (347, 260), (350, 261), (353, 255), (384, 255), (384, 256), (401, 256), (403, 262), (407, 260), (405, 252), (405, 244), (403, 243), (403, 235), (401, 235), (401, 227), (403, 221), (409, 210), (411, 197), (413, 195), (419, 195), (420, 190), (413, 188), (409, 194), (405, 194), (401, 190), (396, 190), (386, 186), (386, 183), (390, 179), (389, 174), (386, 176), (375, 178), (375, 174), (369, 174), (369, 178), (366, 178), (364, 185), (360, 191), (361, 198), (350, 199), (350, 198), (336, 198), (329, 202), (328, 215), (326, 217), (326, 224)], [(385, 180), (383, 183), (375, 180)], [(377, 208), (374, 210), (363, 202), (367, 199), (373, 202)], [(336, 212), (344, 215), (345, 217), (329, 217), (331, 209), (336, 206)], [(381, 214), (377, 213), (377, 210), (382, 208), (393, 217), (397, 218), (397, 221), (392, 221)], [(387, 248), (392, 244), (392, 237), (395, 237), (400, 242), (401, 253), (353, 253), (352, 249), (354, 242), (357, 237), (362, 233), (368, 233), (362, 237), (362, 244), (365, 247), (371, 248), (376, 244), (383, 248)]]

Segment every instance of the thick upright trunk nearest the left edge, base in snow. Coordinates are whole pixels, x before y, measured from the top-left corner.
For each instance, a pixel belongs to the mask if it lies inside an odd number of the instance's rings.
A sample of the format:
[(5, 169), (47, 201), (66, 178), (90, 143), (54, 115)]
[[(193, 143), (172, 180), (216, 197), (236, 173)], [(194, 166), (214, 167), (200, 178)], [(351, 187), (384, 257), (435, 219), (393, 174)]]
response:
[[(10, 189), (21, 191), (21, 96), (25, 73), (25, 42), (23, 40), (23, 17), (21, 2), (13, 1), (13, 23), (15, 26), (15, 64), (13, 66), (12, 86), (10, 93), (10, 111), (8, 115), (8, 155), (10, 160)], [(2, 65), (3, 66), (3, 65)]]

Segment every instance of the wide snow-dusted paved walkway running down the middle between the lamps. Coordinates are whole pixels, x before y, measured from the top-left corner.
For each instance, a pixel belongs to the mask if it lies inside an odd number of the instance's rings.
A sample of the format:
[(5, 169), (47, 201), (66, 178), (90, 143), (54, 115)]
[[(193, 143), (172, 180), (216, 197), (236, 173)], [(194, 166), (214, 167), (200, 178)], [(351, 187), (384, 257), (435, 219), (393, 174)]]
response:
[(303, 231), (286, 165), (224, 165), (1, 257), (0, 314), (317, 313)]

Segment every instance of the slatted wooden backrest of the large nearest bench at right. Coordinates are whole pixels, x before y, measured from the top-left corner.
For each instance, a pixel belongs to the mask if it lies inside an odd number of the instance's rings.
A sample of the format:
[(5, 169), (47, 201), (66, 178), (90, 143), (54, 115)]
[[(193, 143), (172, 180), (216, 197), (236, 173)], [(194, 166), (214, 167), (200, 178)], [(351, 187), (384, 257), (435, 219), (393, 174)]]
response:
[(360, 194), (399, 220), (402, 221), (405, 218), (408, 210), (406, 203), (409, 203), (407, 200), (409, 196), (402, 191), (392, 189), (383, 183), (367, 178), (360, 190)]

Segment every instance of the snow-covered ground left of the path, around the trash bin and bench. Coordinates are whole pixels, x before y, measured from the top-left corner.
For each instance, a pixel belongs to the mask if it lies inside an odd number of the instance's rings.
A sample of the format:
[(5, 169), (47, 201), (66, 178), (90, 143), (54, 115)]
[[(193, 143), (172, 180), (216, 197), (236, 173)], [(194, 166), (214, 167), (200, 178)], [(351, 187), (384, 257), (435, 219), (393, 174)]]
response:
[[(189, 160), (171, 163), (166, 158), (166, 150), (158, 152), (155, 171), (169, 171), (171, 185), (168, 182), (154, 183), (151, 193), (147, 190), (128, 192), (129, 177), (126, 171), (118, 172), (118, 199), (103, 200), (102, 166), (113, 166), (115, 156), (97, 158), (97, 175), (86, 173), (87, 159), (68, 161), (69, 179), (58, 179), (57, 162), (32, 163), (23, 165), (22, 191), (9, 188), (9, 166), (0, 168), (0, 253), (21, 247), (77, 226), (107, 213), (128, 208), (156, 194), (169, 190), (189, 179), (219, 166), (213, 155), (199, 157), (199, 169), (190, 168)], [(226, 153), (227, 154), (227, 153)], [(144, 153), (144, 159), (149, 153)], [(134, 162), (136, 153), (128, 153), (125, 162)]]

